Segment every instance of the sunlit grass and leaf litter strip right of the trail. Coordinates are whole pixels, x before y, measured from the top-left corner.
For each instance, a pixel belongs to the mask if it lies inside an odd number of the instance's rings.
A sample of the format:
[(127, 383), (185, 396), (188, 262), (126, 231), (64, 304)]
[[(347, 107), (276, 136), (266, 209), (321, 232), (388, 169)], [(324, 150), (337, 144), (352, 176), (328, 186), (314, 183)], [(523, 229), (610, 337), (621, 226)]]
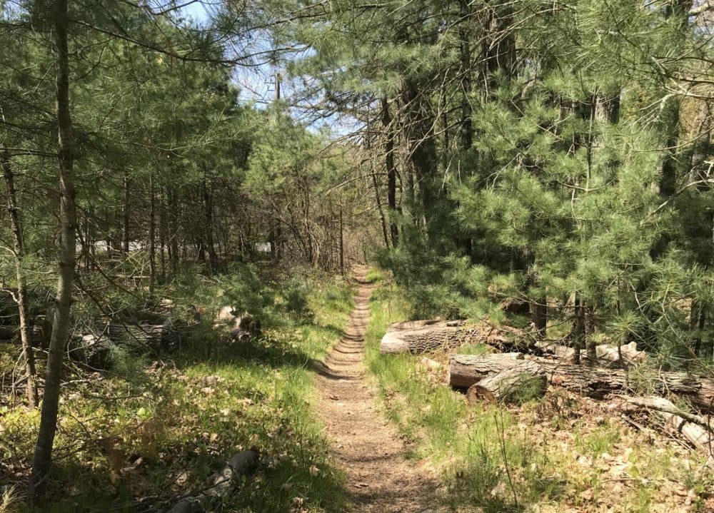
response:
[[(459, 512), (703, 511), (714, 479), (689, 452), (628, 429), (605, 405), (560, 389), (524, 387), (519, 405), (468, 406), (423, 356), (380, 355), (391, 322), (413, 312), (387, 278), (371, 298), (366, 365), (383, 410), (411, 455), (443, 482), (443, 507)], [(459, 352), (482, 354), (483, 345)], [(588, 408), (593, 411), (588, 411)], [(583, 410), (585, 412), (583, 413)], [(676, 509), (678, 504), (688, 509)], [(655, 505), (661, 504), (660, 509)]]

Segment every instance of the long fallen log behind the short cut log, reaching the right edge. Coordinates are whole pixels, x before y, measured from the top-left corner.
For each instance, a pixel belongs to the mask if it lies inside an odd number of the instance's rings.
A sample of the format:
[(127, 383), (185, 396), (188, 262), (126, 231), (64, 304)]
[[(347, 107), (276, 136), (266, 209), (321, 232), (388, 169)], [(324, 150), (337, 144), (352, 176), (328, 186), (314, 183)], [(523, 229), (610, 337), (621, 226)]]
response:
[[(518, 353), (515, 353), (518, 354)], [(523, 357), (521, 355), (521, 357)], [(453, 355), (449, 363), (448, 383), (452, 387), (468, 388), (516, 365), (514, 353), (509, 355)], [(621, 369), (605, 369), (587, 365), (570, 365), (545, 358), (531, 357), (534, 374), (545, 375), (551, 385), (560, 385), (588, 397), (602, 398), (606, 395), (633, 390), (634, 377)], [(685, 372), (638, 373), (638, 380), (647, 380), (657, 392), (672, 392), (689, 400), (696, 407), (708, 411), (714, 409), (714, 380), (689, 375)]]

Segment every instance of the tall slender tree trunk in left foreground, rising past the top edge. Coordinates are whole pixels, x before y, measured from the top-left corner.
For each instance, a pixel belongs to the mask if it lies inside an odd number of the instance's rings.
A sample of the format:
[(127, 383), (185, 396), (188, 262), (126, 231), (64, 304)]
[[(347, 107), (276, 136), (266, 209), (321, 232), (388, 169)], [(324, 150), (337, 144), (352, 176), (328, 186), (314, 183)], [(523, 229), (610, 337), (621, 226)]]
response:
[(69, 111), (69, 49), (67, 0), (54, 2), (54, 37), (57, 73), (57, 126), (59, 153), (59, 280), (54, 309), (52, 337), (47, 356), (44, 398), (37, 445), (32, 462), (32, 480), (37, 484), (46, 477), (52, 462), (52, 447), (57, 428), (59, 393), (64, 346), (69, 334), (69, 314), (74, 287), (75, 225), (74, 141)]

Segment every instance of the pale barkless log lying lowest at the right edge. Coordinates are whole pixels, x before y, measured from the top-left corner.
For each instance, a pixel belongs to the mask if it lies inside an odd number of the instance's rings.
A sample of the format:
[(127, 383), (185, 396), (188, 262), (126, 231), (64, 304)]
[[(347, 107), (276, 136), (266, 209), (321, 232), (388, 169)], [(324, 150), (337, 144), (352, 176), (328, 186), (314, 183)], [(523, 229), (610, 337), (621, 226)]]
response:
[(647, 410), (665, 422), (665, 430), (678, 433), (714, 463), (714, 435), (702, 417), (681, 412), (664, 397), (625, 397), (628, 410)]

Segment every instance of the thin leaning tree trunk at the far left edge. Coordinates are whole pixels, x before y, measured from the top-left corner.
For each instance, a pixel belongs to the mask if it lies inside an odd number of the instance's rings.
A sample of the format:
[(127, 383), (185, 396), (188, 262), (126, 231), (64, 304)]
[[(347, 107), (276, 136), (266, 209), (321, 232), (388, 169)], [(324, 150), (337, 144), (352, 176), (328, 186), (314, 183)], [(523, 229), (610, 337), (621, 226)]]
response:
[(22, 223), (17, 208), (17, 194), (15, 191), (14, 172), (10, 163), (9, 153), (0, 145), (0, 163), (2, 166), (5, 185), (7, 186), (7, 212), (10, 217), (12, 232), (13, 253), (15, 257), (15, 274), (17, 278), (17, 295), (15, 297), (20, 317), (20, 340), (22, 353), (25, 360), (26, 395), (27, 404), (34, 408), (37, 406), (37, 382), (35, 370), (35, 355), (30, 337), (29, 316), (27, 313), (27, 282), (23, 263), (25, 259), (25, 243), (22, 235)]

